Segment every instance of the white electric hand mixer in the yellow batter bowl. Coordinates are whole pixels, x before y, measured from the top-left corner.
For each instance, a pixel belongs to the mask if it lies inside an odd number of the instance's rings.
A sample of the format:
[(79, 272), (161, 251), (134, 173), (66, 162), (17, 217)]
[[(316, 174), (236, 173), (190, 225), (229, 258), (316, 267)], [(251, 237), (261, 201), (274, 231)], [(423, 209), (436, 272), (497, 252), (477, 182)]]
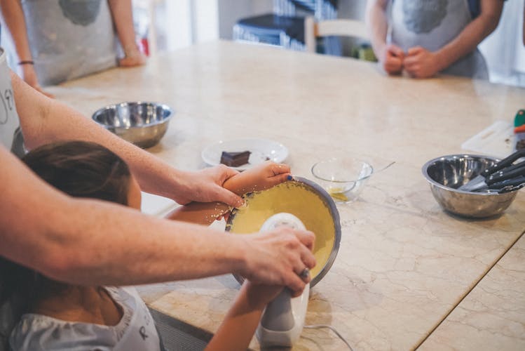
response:
[[(282, 225), (295, 230), (305, 230), (301, 220), (291, 213), (276, 213), (264, 222), (261, 232)], [(303, 293), (296, 298), (292, 298), (289, 289), (285, 288), (271, 303), (268, 303), (256, 331), (261, 347), (292, 347), (303, 331), (309, 293), (309, 283), (306, 284)]]

